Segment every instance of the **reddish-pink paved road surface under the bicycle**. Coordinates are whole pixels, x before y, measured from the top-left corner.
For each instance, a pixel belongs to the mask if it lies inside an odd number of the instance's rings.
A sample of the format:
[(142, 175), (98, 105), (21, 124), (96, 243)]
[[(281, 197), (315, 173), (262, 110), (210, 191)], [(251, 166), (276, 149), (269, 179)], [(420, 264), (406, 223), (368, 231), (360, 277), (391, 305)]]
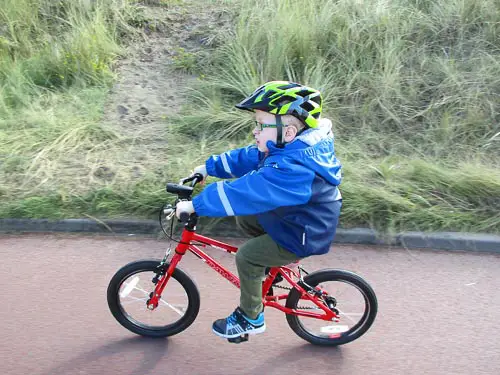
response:
[[(233, 243), (238, 243), (233, 240)], [(337, 348), (296, 336), (266, 310), (267, 331), (229, 344), (211, 332), (238, 290), (196, 257), (180, 267), (201, 294), (197, 320), (168, 339), (146, 339), (108, 311), (112, 275), (132, 260), (161, 258), (145, 238), (0, 237), (0, 374), (500, 374), (500, 256), (336, 246), (303, 264), (359, 273), (374, 288), (377, 319)], [(210, 254), (234, 270), (231, 255)]]

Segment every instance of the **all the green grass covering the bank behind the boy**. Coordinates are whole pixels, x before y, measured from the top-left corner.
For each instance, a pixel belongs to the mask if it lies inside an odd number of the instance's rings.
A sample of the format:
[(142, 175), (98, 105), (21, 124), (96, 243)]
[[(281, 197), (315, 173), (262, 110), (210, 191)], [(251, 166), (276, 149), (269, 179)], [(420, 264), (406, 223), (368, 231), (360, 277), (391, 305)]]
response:
[(124, 36), (147, 23), (142, 8), (0, 0), (0, 217), (152, 217), (165, 182), (251, 141), (234, 104), (289, 79), (324, 94), (343, 227), (500, 232), (494, 0), (210, 4), (234, 27), (212, 30), (202, 53), (179, 47), (173, 68), (200, 75), (166, 120), (159, 159), (138, 157), (141, 135), (103, 121)]

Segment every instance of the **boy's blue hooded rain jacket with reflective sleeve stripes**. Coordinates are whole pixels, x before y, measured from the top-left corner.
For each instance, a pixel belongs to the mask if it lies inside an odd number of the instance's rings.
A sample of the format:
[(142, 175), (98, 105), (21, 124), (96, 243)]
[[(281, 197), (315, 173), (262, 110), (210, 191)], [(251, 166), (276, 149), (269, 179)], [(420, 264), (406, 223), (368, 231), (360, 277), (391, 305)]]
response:
[(275, 242), (299, 257), (327, 253), (342, 205), (331, 126), (324, 119), (284, 148), (269, 141), (267, 156), (249, 146), (210, 157), (210, 176), (237, 179), (208, 185), (193, 199), (196, 213), (256, 215)]

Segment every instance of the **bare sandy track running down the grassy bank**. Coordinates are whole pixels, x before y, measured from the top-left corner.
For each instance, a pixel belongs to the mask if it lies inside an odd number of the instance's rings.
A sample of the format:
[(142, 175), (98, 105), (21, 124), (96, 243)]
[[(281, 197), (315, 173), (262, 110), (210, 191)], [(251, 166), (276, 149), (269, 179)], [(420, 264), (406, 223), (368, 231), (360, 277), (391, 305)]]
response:
[(104, 115), (127, 145), (119, 150), (120, 164), (140, 160), (140, 166), (128, 168), (132, 178), (142, 176), (139, 169), (165, 161), (169, 120), (185, 103), (185, 88), (202, 74), (197, 59), (209, 53), (230, 23), (225, 8), (199, 1), (141, 8), (143, 35), (118, 62)]

